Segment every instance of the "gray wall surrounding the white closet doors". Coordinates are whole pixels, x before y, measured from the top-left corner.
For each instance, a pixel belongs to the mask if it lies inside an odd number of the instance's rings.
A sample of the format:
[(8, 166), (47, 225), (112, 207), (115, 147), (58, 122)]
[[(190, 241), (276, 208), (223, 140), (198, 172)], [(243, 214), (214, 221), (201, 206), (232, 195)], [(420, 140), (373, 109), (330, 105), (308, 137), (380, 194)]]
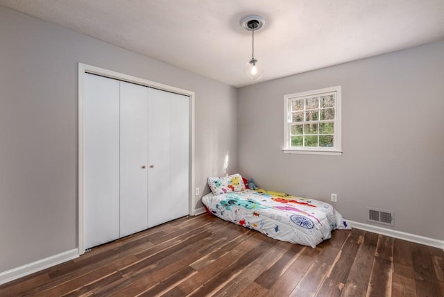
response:
[(0, 272), (77, 247), (78, 62), (196, 92), (196, 187), (237, 169), (234, 87), (0, 6)]

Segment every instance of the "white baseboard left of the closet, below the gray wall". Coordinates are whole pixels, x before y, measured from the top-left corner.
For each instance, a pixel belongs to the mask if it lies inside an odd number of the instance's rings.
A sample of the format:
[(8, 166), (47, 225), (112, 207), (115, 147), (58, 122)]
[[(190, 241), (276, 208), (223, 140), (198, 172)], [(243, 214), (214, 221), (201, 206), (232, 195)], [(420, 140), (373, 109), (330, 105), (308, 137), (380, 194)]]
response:
[(22, 278), (26, 275), (41, 271), (51, 266), (73, 260), (76, 257), (78, 257), (78, 249), (74, 248), (74, 250), (71, 251), (66, 251), (42, 260), (37, 260), (32, 263), (24, 264), (22, 266), (0, 272), (0, 285), (12, 280), (17, 280), (17, 278)]

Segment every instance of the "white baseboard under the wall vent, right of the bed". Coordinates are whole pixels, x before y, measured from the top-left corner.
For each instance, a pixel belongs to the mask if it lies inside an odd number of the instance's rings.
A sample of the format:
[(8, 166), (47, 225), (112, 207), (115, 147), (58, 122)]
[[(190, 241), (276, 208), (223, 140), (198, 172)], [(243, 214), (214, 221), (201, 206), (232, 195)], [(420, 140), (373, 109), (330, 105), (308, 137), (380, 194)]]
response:
[(434, 238), (424, 237), (420, 235), (415, 235), (407, 232), (392, 230), (388, 228), (382, 228), (378, 226), (369, 225), (366, 223), (359, 223), (355, 221), (350, 221), (352, 228), (357, 228), (364, 231), (375, 232), (380, 235), (386, 235), (389, 237), (395, 237), (398, 239), (404, 239), (407, 241), (416, 242), (417, 244), (425, 244), (426, 246), (434, 246), (435, 248), (444, 249), (444, 241)]

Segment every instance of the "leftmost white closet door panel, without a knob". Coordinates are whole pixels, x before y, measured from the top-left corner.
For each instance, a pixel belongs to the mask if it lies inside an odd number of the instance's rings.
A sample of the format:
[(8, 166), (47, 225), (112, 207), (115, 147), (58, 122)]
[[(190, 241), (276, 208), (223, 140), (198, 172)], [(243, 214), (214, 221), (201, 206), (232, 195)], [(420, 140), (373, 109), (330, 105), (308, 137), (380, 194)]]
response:
[(85, 74), (85, 247), (119, 238), (119, 81)]

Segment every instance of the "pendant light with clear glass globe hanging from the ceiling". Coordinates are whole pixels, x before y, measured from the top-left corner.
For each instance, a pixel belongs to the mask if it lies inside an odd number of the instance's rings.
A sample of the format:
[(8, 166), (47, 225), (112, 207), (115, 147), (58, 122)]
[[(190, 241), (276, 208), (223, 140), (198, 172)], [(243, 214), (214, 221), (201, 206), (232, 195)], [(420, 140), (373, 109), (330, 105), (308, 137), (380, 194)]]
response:
[(245, 74), (252, 80), (258, 80), (264, 74), (261, 62), (255, 58), (255, 32), (259, 31), (265, 24), (264, 18), (259, 15), (249, 15), (241, 20), (241, 26), (252, 33), (251, 59), (245, 65)]

